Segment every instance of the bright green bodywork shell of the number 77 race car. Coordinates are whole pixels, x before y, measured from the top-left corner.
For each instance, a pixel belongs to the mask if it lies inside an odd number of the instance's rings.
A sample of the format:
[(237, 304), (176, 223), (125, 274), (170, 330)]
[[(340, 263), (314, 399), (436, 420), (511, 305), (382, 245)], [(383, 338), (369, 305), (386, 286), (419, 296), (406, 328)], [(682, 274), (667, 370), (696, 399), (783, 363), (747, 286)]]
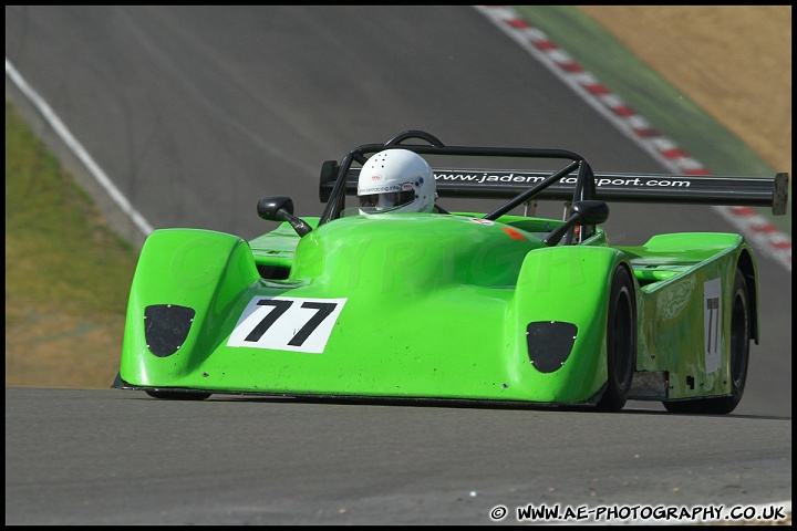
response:
[[(726, 301), (737, 268), (756, 315), (755, 261), (738, 235), (662, 235), (611, 247), (599, 229), (579, 244), (548, 247), (542, 238), (561, 221), (467, 214), (352, 216), (320, 227), (319, 218), (304, 220), (313, 230), (301, 238), (282, 223), (249, 242), (198, 229), (154, 231), (133, 279), (118, 386), (594, 403), (607, 384), (612, 274), (628, 268), (638, 317), (631, 398), (720, 396), (731, 392)], [(716, 366), (706, 365), (706, 283), (720, 287), (723, 302)], [(147, 314), (153, 309), (161, 313)], [(551, 322), (571, 323), (577, 334), (568, 352), (553, 354), (556, 369), (539, 371), (527, 326)]]

